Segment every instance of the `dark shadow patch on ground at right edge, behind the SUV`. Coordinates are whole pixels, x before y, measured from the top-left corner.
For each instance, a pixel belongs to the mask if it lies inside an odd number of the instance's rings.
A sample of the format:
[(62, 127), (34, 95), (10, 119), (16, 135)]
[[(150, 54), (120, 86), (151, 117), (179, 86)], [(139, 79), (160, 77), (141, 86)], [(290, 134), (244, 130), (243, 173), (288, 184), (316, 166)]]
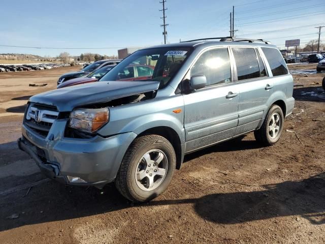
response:
[(325, 90), (322, 86), (295, 88), (293, 97), (298, 101), (325, 102)]

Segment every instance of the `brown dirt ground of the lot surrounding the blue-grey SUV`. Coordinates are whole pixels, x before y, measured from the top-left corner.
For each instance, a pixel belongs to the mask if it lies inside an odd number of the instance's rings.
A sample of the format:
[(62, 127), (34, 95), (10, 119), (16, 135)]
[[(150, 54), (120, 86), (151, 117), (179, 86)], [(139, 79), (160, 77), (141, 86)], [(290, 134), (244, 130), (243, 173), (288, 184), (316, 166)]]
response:
[(325, 243), (324, 73), (294, 75), (277, 144), (249, 133), (187, 155), (163, 195), (133, 204), (48, 180), (17, 148), (28, 98), (79, 68), (0, 74), (0, 243)]

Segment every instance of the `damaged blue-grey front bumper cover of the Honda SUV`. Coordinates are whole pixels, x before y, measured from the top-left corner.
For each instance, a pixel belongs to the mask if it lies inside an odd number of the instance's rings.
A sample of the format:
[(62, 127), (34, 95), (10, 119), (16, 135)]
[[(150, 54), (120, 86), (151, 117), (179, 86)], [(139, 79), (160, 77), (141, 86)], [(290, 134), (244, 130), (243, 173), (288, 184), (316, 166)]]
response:
[[(55, 130), (60, 123), (53, 123), (49, 135), (51, 131), (56, 133), (46, 138), (23, 125), (22, 138), (18, 139), (19, 148), (35, 160), (47, 177), (63, 184), (103, 187), (112, 182), (137, 134), (128, 132), (109, 138), (64, 138)], [(82, 180), (71, 180), (78, 177)]]

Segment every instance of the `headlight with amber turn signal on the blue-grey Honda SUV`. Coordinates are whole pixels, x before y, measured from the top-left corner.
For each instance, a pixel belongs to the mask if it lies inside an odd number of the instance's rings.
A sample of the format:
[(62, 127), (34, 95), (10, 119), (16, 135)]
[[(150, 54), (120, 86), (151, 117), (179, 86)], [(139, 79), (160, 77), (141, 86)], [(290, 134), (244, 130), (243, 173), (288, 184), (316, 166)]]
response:
[(93, 133), (104, 126), (109, 121), (108, 108), (77, 108), (70, 114), (71, 128)]

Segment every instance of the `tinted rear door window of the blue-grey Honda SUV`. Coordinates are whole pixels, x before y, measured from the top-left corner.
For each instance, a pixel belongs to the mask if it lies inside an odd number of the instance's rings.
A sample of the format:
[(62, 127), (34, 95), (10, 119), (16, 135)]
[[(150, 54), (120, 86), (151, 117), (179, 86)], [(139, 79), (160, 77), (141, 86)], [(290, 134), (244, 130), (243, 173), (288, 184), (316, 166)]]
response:
[(259, 66), (254, 48), (233, 48), (238, 80), (258, 78)]

